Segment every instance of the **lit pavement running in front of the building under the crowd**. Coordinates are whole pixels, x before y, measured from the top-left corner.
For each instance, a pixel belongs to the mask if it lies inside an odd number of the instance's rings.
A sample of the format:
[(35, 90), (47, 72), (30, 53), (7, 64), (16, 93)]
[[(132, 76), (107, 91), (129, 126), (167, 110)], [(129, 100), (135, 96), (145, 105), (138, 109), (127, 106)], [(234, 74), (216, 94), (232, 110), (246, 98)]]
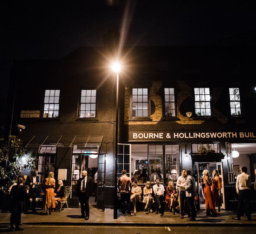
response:
[[(0, 213), (0, 224), (9, 225), (11, 213), (2, 211)], [(256, 226), (256, 213), (253, 213), (252, 221), (248, 221), (246, 216), (241, 220), (232, 220), (236, 213), (221, 210), (217, 217), (206, 216), (205, 210), (197, 212), (196, 221), (187, 221), (187, 215), (180, 219), (180, 214), (173, 215), (165, 212), (164, 216), (154, 213), (137, 212), (134, 216), (122, 216), (118, 211), (118, 219), (113, 219), (113, 209), (105, 209), (101, 212), (90, 205), (90, 219), (79, 218), (81, 215), (79, 208), (65, 208), (61, 212), (52, 212), (47, 215), (45, 211), (38, 210), (37, 214), (21, 214), (21, 222), (26, 225), (137, 225), (137, 226)]]

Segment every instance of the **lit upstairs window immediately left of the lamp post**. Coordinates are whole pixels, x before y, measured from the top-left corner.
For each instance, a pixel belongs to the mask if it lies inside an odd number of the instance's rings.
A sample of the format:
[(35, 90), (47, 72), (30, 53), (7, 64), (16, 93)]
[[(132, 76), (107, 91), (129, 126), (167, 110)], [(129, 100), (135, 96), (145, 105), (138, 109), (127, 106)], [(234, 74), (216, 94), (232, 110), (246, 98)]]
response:
[(96, 117), (96, 89), (84, 89), (81, 91), (79, 118)]

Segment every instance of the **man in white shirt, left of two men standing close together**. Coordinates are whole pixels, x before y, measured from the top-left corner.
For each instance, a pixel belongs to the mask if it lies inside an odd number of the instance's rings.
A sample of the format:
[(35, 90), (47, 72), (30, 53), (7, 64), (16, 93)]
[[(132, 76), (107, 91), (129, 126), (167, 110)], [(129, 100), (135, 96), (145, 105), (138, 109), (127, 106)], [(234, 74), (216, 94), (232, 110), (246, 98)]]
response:
[[(186, 202), (186, 170), (182, 169), (181, 176), (177, 179), (176, 182), (176, 190), (179, 192), (179, 210), (180, 210), (180, 219), (184, 218), (184, 207)], [(188, 207), (188, 206), (186, 206)], [(187, 209), (188, 210), (188, 209)], [(188, 211), (188, 214), (190, 216), (190, 212)]]

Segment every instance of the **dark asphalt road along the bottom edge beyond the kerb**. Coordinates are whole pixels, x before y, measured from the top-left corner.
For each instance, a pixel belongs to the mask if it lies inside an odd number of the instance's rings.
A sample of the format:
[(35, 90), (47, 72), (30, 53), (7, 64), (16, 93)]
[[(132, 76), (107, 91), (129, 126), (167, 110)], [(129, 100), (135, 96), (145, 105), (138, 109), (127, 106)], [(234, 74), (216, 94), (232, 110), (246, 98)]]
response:
[[(227, 226), (227, 227), (175, 227), (175, 226), (44, 226), (44, 225), (33, 225), (33, 226), (22, 226), (23, 231), (18, 233), (51, 233), (51, 234), (80, 234), (80, 233), (118, 233), (118, 234), (160, 234), (160, 233), (173, 233), (173, 234), (182, 234), (182, 233), (208, 233), (211, 234), (221, 234), (221, 233), (232, 233), (232, 234), (241, 234), (241, 233), (255, 233), (255, 226), (243, 227), (243, 226)], [(9, 227), (0, 226), (0, 233), (8, 233)]]

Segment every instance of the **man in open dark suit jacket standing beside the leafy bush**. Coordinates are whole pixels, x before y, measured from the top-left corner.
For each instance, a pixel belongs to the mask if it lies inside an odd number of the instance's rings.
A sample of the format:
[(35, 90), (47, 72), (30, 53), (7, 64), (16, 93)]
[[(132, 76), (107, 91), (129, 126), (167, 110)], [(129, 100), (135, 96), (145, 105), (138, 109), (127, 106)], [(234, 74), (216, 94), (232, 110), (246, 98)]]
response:
[(39, 185), (38, 170), (34, 170), (33, 174), (27, 177), (25, 184), (29, 186), (29, 196), (32, 198), (32, 212), (37, 213), (35, 210), (35, 199), (37, 197), (36, 187)]

